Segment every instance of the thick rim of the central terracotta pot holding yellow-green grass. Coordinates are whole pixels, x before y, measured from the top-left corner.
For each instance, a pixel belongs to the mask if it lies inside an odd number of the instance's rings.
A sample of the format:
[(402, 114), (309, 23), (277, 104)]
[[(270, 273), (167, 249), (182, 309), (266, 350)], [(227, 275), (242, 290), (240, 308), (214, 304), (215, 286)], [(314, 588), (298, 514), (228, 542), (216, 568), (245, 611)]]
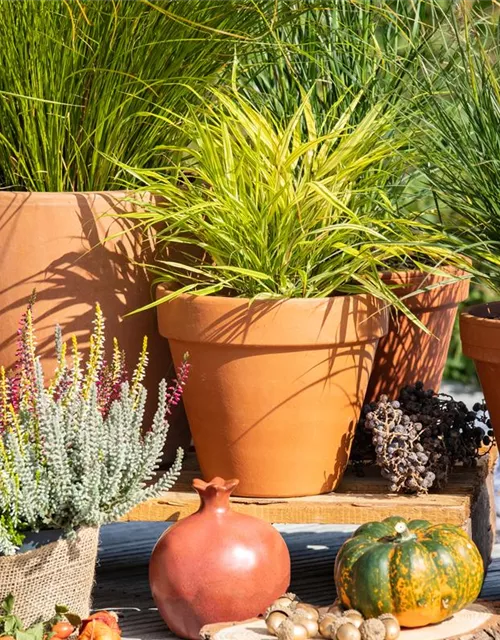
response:
[(160, 333), (225, 347), (315, 349), (372, 342), (388, 331), (387, 303), (367, 294), (249, 302), (180, 294), (158, 305)]

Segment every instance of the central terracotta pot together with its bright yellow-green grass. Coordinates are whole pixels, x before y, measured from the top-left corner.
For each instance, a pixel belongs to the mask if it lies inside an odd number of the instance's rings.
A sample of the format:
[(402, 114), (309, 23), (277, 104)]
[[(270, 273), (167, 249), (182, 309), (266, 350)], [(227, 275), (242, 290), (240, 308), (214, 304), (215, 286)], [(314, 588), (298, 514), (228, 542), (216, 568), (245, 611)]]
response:
[(356, 123), (358, 102), (347, 92), (319, 128), (307, 96), (283, 122), (214, 90), (166, 114), (192, 140), (169, 166), (131, 169), (164, 202), (130, 217), (156, 230), (160, 332), (174, 362), (190, 353), (201, 470), (238, 477), (239, 495), (338, 485), (387, 307), (405, 309), (380, 269), (444, 251), (386, 197), (407, 162), (394, 111)]

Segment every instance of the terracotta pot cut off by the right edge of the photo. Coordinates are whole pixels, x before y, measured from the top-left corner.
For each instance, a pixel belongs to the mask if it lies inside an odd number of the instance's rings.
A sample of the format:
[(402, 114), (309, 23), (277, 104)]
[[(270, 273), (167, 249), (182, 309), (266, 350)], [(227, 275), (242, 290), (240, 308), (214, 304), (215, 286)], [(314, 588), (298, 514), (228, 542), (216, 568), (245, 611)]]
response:
[(500, 442), (500, 302), (469, 307), (460, 314), (464, 354), (474, 360), (486, 406)]

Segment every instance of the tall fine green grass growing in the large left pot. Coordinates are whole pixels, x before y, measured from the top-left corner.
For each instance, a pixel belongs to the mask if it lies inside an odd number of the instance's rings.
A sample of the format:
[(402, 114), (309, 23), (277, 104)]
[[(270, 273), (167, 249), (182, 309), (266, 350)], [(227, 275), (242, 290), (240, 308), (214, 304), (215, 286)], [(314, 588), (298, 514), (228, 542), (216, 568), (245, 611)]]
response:
[[(0, 0), (0, 186), (106, 190), (154, 166), (184, 110), (267, 29), (273, 0)], [(287, 11), (284, 7), (283, 19)], [(159, 156), (158, 156), (159, 154)]]

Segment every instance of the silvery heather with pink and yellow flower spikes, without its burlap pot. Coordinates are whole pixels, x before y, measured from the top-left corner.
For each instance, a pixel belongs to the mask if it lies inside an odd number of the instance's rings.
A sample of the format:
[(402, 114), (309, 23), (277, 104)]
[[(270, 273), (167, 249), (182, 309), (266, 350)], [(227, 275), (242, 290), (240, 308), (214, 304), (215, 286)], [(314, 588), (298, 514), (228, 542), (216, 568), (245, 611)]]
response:
[(58, 365), (45, 384), (33, 329), (32, 303), (19, 328), (13, 371), (0, 368), (0, 552), (13, 554), (24, 534), (40, 529), (74, 532), (119, 519), (136, 504), (172, 487), (182, 450), (155, 481), (189, 365), (174, 382), (160, 383), (151, 428), (143, 431), (147, 367), (144, 340), (129, 377), (114, 342), (105, 361), (104, 318), (96, 305), (86, 363), (75, 337), (71, 355), (56, 329)]

